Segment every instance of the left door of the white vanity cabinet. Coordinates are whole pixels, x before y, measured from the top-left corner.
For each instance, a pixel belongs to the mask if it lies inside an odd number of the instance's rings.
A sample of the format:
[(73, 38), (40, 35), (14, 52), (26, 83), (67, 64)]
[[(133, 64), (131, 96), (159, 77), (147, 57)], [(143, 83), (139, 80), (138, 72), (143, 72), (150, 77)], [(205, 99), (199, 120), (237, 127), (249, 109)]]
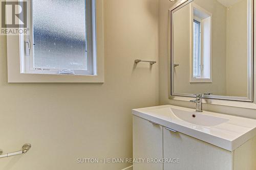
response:
[(134, 170), (162, 170), (163, 163), (147, 163), (148, 159), (163, 158), (163, 127), (133, 116), (133, 158), (144, 159), (134, 163)]

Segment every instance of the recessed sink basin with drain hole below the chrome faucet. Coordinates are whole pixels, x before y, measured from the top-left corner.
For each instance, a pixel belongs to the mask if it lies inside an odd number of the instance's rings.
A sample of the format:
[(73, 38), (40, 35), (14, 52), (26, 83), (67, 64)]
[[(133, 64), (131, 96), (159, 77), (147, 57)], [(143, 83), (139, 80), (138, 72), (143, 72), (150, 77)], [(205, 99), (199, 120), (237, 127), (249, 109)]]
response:
[(179, 109), (170, 109), (172, 113), (180, 118), (181, 120), (184, 120), (188, 123), (199, 125), (199, 126), (206, 126), (206, 127), (214, 127), (220, 124), (223, 124), (225, 122), (228, 122), (229, 119), (221, 118), (221, 117), (215, 117), (210, 116), (202, 113), (196, 113), (196, 112), (188, 112), (184, 110)]

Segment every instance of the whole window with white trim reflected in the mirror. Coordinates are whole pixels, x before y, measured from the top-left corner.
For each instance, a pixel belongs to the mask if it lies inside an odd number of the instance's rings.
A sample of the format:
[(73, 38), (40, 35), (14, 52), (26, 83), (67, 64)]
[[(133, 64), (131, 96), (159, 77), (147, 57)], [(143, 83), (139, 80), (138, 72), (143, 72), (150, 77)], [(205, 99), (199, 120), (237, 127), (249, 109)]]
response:
[(190, 82), (211, 82), (211, 18), (212, 15), (192, 3), (191, 34), (193, 35)]

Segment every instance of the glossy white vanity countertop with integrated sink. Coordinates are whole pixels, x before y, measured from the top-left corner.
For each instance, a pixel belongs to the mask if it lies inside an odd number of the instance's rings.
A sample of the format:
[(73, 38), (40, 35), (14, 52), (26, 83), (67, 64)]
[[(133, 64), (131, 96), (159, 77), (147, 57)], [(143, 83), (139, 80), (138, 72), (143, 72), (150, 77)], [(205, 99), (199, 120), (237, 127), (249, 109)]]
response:
[(256, 120), (165, 105), (134, 109), (133, 114), (217, 147), (234, 151), (256, 135)]

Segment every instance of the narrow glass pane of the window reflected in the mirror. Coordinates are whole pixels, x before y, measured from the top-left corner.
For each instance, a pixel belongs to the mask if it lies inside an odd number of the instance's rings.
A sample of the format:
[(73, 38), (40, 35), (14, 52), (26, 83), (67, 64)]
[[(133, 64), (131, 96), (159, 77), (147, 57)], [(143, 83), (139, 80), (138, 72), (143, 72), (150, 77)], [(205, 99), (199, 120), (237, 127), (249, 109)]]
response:
[(200, 22), (194, 20), (194, 54), (193, 54), (193, 77), (200, 77)]

